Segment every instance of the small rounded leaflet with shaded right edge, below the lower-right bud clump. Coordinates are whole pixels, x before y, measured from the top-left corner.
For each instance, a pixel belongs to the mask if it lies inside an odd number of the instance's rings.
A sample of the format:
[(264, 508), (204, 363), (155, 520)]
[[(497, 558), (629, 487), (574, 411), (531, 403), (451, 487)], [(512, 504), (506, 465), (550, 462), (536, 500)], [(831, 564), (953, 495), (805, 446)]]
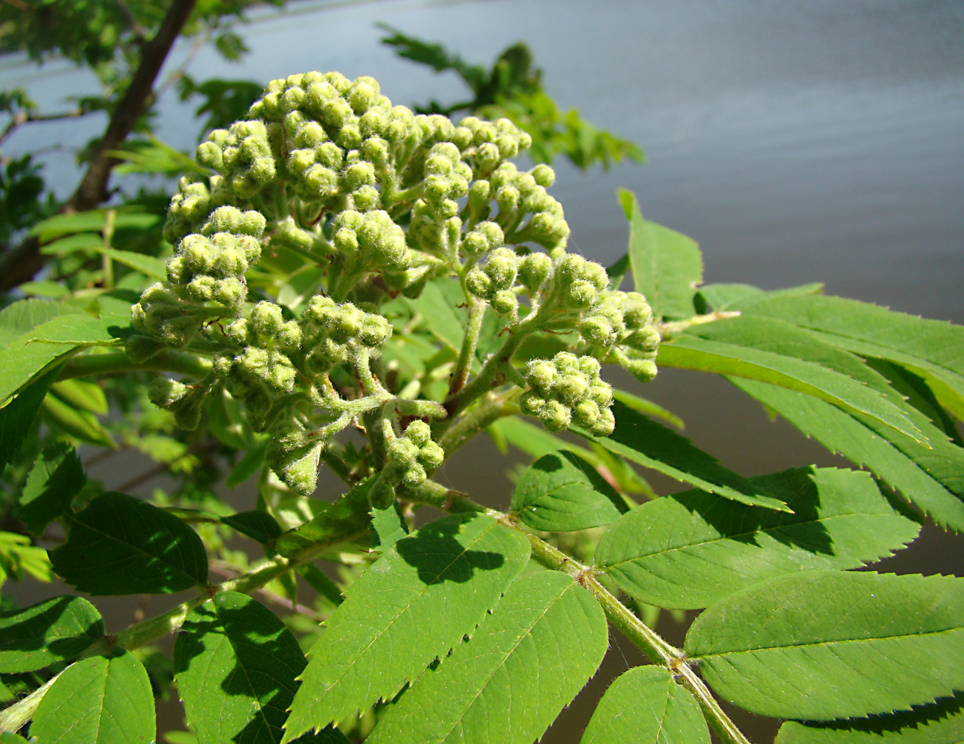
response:
[(572, 532), (611, 524), (627, 507), (596, 468), (561, 451), (544, 455), (522, 474), (512, 511), (532, 529)]

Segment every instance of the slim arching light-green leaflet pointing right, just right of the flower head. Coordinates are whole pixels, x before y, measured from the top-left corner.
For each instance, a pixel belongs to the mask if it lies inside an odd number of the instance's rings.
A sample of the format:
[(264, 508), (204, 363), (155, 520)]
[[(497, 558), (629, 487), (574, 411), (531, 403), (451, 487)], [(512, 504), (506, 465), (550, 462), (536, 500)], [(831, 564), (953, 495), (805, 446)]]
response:
[(868, 415), (915, 441), (926, 441), (906, 414), (879, 392), (812, 361), (686, 334), (660, 345), (656, 363), (805, 392), (845, 411)]

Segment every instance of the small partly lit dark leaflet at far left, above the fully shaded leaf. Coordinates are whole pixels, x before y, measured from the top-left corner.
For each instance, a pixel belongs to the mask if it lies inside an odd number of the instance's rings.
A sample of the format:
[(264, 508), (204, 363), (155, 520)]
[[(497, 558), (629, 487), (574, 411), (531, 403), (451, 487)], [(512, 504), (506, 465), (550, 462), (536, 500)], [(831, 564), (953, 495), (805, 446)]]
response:
[(65, 441), (44, 448), (27, 475), (17, 515), (34, 535), (70, 510), (74, 496), (87, 484), (77, 451)]

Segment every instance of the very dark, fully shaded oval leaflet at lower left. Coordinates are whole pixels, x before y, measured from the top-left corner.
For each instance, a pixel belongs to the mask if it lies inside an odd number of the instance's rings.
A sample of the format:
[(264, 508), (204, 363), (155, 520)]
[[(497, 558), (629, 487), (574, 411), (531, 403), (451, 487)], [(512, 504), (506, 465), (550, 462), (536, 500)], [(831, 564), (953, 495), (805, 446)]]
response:
[(156, 506), (107, 492), (66, 521), (67, 542), (50, 561), (79, 592), (169, 594), (207, 581), (201, 538)]

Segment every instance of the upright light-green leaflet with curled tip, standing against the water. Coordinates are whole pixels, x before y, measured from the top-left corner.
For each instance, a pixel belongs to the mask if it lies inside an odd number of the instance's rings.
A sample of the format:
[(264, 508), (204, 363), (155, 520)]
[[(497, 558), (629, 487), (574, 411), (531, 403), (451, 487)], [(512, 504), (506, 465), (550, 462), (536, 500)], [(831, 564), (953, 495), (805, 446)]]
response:
[(699, 246), (683, 233), (644, 220), (631, 191), (620, 189), (618, 194), (629, 220), (633, 288), (646, 297), (657, 320), (688, 318), (696, 285), (703, 281)]

